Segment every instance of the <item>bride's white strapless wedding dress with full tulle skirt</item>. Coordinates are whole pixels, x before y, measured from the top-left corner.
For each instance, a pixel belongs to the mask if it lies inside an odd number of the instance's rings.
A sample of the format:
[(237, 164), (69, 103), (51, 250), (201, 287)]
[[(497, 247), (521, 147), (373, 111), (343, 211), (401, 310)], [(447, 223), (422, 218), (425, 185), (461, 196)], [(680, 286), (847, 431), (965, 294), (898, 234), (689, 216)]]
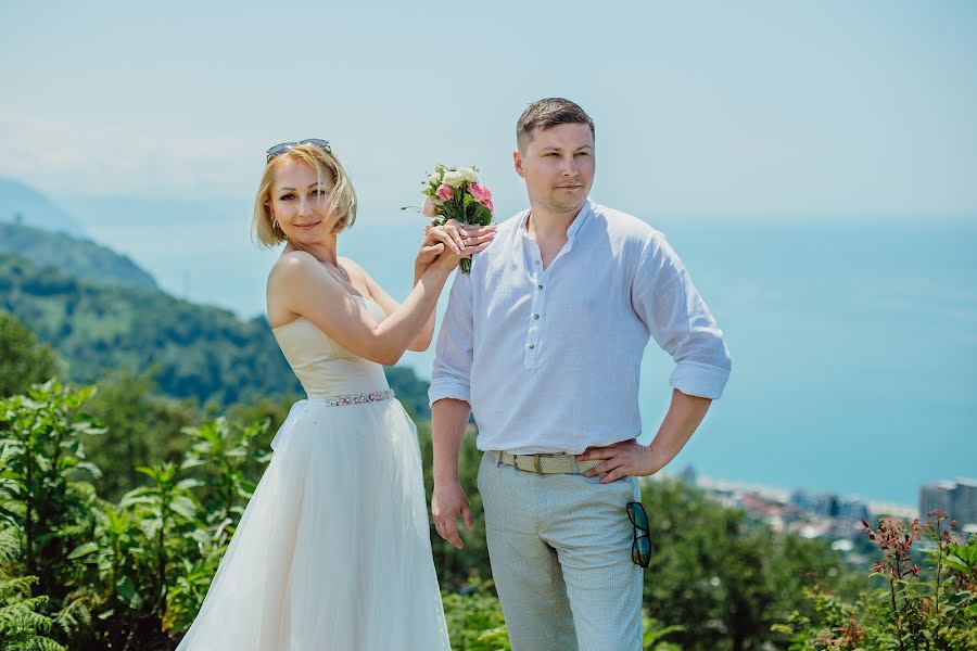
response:
[(414, 422), (380, 365), (305, 318), (274, 332), (308, 399), (178, 650), (448, 651)]

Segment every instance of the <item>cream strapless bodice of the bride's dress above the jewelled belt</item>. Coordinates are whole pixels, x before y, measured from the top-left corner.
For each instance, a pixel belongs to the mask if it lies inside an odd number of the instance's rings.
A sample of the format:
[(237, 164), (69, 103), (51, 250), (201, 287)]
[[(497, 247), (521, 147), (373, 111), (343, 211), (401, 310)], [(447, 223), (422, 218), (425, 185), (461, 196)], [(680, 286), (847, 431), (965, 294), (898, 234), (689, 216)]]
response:
[[(372, 301), (357, 299), (378, 321), (385, 318)], [(390, 388), (382, 366), (350, 353), (305, 317), (272, 328), (271, 332), (309, 398)]]

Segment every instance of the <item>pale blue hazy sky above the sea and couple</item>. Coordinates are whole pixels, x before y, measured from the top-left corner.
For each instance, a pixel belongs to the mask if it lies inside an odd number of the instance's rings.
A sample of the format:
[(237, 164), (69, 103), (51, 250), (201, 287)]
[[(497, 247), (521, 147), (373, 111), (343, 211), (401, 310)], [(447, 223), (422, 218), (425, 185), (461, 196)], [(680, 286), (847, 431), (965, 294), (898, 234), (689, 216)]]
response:
[(0, 176), (240, 202), (267, 146), (318, 137), (373, 218), (437, 162), (516, 212), (516, 119), (560, 95), (625, 210), (977, 215), (975, 28), (966, 1), (5, 0)]

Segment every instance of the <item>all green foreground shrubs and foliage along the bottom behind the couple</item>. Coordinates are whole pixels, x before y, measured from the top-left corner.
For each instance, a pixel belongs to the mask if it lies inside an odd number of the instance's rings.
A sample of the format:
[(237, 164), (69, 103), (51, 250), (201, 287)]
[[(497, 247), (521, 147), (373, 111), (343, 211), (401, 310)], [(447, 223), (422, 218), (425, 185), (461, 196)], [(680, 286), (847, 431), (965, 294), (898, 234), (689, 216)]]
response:
[[(0, 630), (38, 644), (50, 644), (45, 641), (50, 638), (72, 649), (173, 648), (192, 622), (264, 469), (267, 447), (257, 442), (267, 441), (269, 420), (240, 424), (218, 417), (183, 427), (178, 446), (183, 451), (176, 461), (137, 469), (141, 485), (118, 499), (105, 499), (96, 488), (102, 471), (115, 474), (122, 468), (91, 463), (89, 444), (94, 448), (109, 436), (89, 413), (93, 394), (93, 387), (75, 390), (52, 381), (0, 401), (0, 520), (5, 521), (0, 529)], [(283, 417), (270, 403), (257, 411)], [(243, 413), (248, 410), (242, 408)], [(153, 431), (148, 419), (160, 416), (134, 411), (131, 418), (144, 421), (131, 430), (141, 436)], [(420, 439), (430, 468), (430, 432), (423, 423)], [(477, 533), (467, 536), (460, 552), (434, 538), (435, 563), (455, 648), (506, 649), (473, 485), (477, 462), (469, 436), (461, 478), (472, 496)], [(899, 608), (888, 616), (878, 601), (874, 611), (861, 611), (875, 620), (857, 621), (852, 617), (860, 611), (846, 605), (846, 599), (857, 595), (853, 587), (865, 591), (865, 578), (851, 576), (823, 544), (746, 527), (741, 512), (674, 481), (647, 483), (643, 499), (655, 540), (645, 584), (646, 649), (788, 643), (795, 649), (854, 649), (819, 640), (828, 634), (855, 639), (855, 625), (862, 631), (858, 635), (867, 637), (870, 624), (884, 633), (877, 639), (894, 639), (897, 622), (906, 631), (903, 637), (916, 630), (916, 639), (923, 639), (923, 631), (931, 629), (932, 639), (972, 641), (966, 631), (975, 623), (977, 545), (946, 538), (934, 557), (941, 587), (918, 592), (918, 598), (908, 561), (884, 556), (876, 566), (879, 574), (890, 566), (885, 563), (901, 563), (903, 574), (892, 577), (890, 586)], [(891, 546), (902, 533), (886, 539)], [(914, 628), (917, 621), (926, 625)]]

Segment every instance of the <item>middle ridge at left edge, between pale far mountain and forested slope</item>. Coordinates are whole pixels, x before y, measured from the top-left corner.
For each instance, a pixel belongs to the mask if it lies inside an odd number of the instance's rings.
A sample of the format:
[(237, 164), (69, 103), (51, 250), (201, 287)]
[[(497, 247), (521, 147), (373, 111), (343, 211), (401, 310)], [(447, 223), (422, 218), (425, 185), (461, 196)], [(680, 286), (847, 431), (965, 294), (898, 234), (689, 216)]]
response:
[(154, 290), (156, 281), (131, 259), (100, 244), (18, 224), (0, 224), (0, 252), (85, 280)]

